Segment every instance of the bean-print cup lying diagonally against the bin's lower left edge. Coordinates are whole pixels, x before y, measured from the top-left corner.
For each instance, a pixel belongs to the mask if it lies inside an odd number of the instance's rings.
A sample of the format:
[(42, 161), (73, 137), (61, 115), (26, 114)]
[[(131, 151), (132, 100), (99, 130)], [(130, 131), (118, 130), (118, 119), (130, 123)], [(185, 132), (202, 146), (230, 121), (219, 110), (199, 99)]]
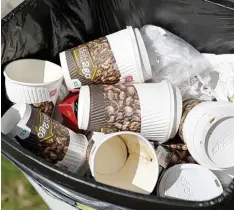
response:
[(88, 141), (28, 104), (13, 105), (2, 117), (2, 133), (70, 172), (86, 161)]

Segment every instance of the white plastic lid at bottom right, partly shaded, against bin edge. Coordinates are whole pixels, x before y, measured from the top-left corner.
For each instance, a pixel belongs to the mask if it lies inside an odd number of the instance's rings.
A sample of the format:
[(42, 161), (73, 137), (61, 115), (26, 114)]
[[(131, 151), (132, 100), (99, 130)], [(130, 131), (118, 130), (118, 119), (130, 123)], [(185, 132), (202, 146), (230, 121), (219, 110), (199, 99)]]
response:
[(169, 168), (159, 184), (159, 195), (162, 197), (206, 201), (222, 193), (223, 187), (218, 178), (197, 164), (181, 164)]

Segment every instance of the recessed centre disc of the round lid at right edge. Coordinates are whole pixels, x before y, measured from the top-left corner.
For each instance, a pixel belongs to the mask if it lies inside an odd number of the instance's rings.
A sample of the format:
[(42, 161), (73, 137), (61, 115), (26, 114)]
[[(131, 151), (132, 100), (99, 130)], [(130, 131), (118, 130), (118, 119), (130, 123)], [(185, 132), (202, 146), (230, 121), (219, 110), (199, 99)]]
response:
[(207, 135), (210, 159), (220, 168), (234, 166), (234, 117), (219, 120)]

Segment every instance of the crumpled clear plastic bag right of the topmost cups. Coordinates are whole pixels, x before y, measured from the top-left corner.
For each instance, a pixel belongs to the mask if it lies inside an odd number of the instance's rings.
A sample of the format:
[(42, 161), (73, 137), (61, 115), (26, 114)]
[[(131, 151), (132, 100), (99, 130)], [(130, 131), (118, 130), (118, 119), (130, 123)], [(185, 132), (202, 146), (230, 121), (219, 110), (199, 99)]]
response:
[(209, 62), (194, 47), (178, 36), (153, 25), (140, 29), (153, 78), (151, 82), (168, 82), (180, 87), (190, 78), (210, 72)]

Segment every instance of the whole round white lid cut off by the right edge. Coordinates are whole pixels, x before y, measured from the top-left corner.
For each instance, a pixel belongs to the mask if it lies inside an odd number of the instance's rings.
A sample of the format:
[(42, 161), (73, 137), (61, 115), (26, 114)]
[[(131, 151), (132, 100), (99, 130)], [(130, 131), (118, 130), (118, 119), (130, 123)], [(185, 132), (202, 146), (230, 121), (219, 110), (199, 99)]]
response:
[(234, 106), (204, 102), (194, 107), (184, 121), (183, 138), (194, 159), (213, 169), (234, 166)]

